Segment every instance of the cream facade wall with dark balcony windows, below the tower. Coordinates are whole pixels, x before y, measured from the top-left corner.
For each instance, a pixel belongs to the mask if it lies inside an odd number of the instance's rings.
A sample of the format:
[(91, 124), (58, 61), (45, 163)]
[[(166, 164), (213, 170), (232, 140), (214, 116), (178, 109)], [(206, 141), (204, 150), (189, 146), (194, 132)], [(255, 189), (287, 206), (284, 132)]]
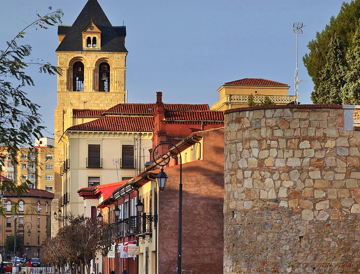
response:
[[(141, 171), (144, 171), (144, 162), (149, 160), (148, 149), (152, 146), (152, 134), (144, 133), (141, 136)], [(63, 176), (68, 179), (68, 190), (70, 192), (70, 204), (67, 211), (75, 215), (84, 211), (83, 198), (79, 197), (77, 191), (88, 187), (88, 177), (100, 177), (100, 184), (108, 184), (121, 181), (122, 177), (134, 177), (138, 175), (136, 169), (122, 169), (113, 163), (114, 159), (121, 159), (121, 149), (123, 145), (134, 145), (134, 138), (138, 138), (138, 133), (87, 133), (69, 132), (62, 139), (64, 146), (70, 145), (70, 170)], [(139, 138), (140, 139), (140, 138)], [(102, 168), (87, 168), (86, 158), (88, 157), (88, 145), (100, 145), (100, 157), (102, 158)], [(143, 150), (144, 148), (144, 150)], [(137, 146), (135, 146), (135, 157), (137, 156)], [(143, 155), (144, 153), (144, 155)], [(139, 159), (137, 160), (139, 163)], [(117, 177), (117, 173), (118, 176)], [(70, 181), (70, 183), (69, 183)]]

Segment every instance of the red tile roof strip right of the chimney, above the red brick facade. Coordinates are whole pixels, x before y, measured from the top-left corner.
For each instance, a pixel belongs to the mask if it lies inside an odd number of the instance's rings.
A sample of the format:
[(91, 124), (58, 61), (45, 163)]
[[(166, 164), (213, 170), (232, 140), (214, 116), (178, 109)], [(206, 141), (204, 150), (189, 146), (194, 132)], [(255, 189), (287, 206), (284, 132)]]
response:
[(165, 111), (167, 121), (224, 121), (224, 115), (219, 111)]

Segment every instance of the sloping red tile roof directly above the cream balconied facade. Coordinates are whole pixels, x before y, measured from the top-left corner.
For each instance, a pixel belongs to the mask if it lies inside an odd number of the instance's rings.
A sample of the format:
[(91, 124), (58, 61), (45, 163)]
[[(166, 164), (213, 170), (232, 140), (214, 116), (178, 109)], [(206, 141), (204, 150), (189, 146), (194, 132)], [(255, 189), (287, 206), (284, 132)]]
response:
[(69, 127), (67, 130), (152, 132), (153, 127), (153, 117), (105, 116), (87, 123), (74, 125), (72, 127)]

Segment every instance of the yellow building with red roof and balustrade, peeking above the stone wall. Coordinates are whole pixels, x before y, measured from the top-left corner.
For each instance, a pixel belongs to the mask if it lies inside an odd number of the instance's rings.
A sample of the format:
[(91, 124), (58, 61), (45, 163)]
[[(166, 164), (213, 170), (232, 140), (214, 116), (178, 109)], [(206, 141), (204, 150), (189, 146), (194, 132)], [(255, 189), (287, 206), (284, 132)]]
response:
[(261, 104), (268, 97), (276, 105), (287, 105), (295, 101), (295, 96), (288, 95), (289, 86), (285, 83), (261, 78), (244, 78), (226, 82), (217, 89), (219, 100), (212, 110), (224, 111), (249, 106), (252, 95), (255, 104)]

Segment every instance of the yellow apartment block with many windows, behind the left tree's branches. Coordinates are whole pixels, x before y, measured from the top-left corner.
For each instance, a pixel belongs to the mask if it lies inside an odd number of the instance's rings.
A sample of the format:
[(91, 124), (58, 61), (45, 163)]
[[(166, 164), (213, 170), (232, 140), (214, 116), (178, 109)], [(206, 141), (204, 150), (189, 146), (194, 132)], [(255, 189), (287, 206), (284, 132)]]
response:
[(16, 162), (6, 154), (2, 175), (16, 184), (28, 182), (31, 189), (54, 191), (54, 139), (44, 137), (35, 141), (35, 148), (21, 148)]

